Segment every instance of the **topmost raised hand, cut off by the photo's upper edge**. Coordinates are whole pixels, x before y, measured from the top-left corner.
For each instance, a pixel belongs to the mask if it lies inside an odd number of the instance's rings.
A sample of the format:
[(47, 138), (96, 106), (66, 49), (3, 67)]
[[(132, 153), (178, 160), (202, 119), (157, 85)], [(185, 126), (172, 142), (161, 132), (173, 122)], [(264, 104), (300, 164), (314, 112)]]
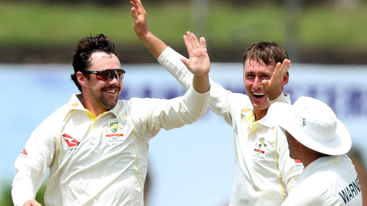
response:
[(146, 11), (140, 0), (131, 0), (130, 3), (132, 5), (130, 12), (134, 19), (132, 25), (137, 36), (141, 38), (149, 32)]

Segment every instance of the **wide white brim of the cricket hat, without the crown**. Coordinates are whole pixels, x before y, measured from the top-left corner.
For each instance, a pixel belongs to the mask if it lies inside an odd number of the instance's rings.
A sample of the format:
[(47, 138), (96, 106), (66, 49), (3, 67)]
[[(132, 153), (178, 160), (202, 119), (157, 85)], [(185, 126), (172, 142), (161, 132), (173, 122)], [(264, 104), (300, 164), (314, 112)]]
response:
[(291, 104), (276, 102), (269, 107), (267, 118), (287, 130), (299, 143), (317, 152), (327, 155), (342, 155), (346, 154), (352, 147), (349, 132), (339, 119), (337, 119), (337, 129), (333, 140), (319, 141), (305, 134), (296, 115), (297, 113)]

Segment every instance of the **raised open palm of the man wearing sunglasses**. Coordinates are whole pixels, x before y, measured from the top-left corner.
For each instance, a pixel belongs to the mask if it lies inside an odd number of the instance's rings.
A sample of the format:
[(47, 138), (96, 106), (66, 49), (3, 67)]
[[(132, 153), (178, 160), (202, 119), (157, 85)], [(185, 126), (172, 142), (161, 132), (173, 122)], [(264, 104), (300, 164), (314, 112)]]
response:
[(180, 60), (195, 76), (207, 75), (210, 71), (210, 59), (206, 52), (205, 38), (201, 37), (199, 43), (195, 34), (187, 32), (183, 40), (189, 53), (189, 60), (185, 58)]

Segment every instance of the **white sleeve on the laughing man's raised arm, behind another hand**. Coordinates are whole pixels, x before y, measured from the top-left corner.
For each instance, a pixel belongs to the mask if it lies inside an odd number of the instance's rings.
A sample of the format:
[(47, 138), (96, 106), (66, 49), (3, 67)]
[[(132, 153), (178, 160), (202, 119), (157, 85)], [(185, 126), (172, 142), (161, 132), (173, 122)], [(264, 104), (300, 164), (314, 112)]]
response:
[[(185, 57), (172, 48), (167, 47), (157, 60), (183, 87), (188, 89), (192, 85), (193, 74), (179, 60), (180, 58)], [(236, 101), (232, 101), (233, 99), (236, 99)], [(217, 115), (223, 115), (225, 121), (231, 126), (232, 118), (230, 111), (232, 107), (235, 107), (233, 104), (244, 103), (250, 103), (248, 96), (226, 90), (210, 78), (210, 102), (208, 108)]]

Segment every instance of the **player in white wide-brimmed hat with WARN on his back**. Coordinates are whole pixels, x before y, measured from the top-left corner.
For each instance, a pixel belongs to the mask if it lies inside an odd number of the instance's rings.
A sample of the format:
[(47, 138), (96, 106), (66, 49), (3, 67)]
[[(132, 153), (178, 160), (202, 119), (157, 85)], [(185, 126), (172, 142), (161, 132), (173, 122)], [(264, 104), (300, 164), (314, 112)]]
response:
[(293, 105), (276, 102), (268, 118), (286, 132), (290, 157), (305, 166), (284, 206), (362, 205), (348, 130), (327, 104), (300, 97)]

